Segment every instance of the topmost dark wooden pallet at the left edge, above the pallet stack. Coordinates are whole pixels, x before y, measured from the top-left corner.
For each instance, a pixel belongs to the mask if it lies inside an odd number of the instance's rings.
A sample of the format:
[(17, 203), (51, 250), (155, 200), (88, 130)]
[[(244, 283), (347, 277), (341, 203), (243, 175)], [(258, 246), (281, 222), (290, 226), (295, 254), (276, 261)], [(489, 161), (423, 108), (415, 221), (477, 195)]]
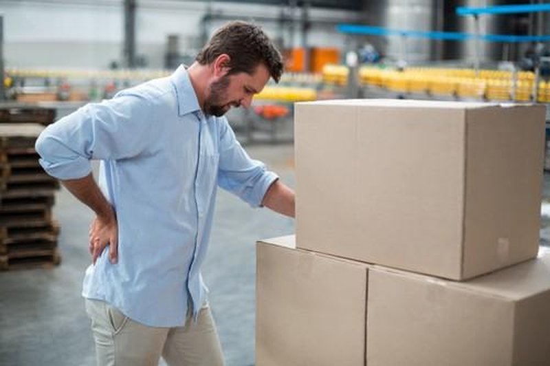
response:
[(3, 103), (0, 106), (0, 123), (38, 123), (47, 126), (53, 123), (55, 118), (54, 108), (25, 103)]

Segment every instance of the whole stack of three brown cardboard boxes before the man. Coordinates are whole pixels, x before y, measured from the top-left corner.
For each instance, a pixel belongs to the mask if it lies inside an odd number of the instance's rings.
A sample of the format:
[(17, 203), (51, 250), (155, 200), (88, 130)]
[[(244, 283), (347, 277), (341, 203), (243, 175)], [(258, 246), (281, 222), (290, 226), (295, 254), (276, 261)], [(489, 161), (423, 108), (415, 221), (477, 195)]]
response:
[(296, 246), (258, 246), (257, 365), (550, 365), (544, 107), (338, 100), (295, 125)]

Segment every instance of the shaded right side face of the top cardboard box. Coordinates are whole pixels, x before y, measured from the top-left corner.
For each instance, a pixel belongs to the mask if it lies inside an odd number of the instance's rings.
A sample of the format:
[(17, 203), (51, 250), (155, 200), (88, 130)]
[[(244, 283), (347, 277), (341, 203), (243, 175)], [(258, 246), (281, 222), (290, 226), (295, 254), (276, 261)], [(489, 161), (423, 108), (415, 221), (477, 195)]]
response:
[(536, 256), (544, 108), (467, 110), (463, 277)]

